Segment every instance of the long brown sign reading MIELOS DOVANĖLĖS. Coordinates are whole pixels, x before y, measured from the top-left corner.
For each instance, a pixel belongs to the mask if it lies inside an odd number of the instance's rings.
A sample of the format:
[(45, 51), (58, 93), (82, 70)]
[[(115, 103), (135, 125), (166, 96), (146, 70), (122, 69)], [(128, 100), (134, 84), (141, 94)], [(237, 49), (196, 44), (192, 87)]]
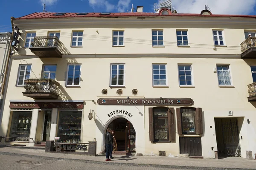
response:
[(98, 99), (99, 105), (193, 105), (192, 99)]

